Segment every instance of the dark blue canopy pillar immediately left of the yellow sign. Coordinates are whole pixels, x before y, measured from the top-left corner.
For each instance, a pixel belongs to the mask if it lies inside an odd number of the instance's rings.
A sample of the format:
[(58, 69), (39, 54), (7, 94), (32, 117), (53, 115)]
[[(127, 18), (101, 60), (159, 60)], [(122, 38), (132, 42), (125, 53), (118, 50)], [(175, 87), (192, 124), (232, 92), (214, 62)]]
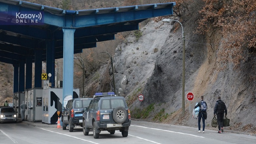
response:
[(34, 87), (42, 87), (42, 50), (35, 50), (35, 84)]

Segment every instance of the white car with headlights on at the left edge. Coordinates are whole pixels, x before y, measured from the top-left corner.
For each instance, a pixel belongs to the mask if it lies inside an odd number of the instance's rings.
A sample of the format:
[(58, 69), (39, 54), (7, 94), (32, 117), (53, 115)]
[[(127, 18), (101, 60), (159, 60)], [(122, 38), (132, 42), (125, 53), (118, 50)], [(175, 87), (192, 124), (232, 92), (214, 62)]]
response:
[(0, 107), (0, 123), (3, 122), (17, 122), (17, 113), (15, 113), (13, 107)]

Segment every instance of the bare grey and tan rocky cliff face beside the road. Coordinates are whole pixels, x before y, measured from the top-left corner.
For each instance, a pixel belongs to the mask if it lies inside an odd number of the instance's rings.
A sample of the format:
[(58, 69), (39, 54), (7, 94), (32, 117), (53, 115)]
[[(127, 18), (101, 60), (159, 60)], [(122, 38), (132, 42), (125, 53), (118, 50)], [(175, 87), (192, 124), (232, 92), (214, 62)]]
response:
[[(161, 23), (161, 22), (159, 22)], [(197, 126), (191, 114), (196, 102), (204, 96), (208, 105), (206, 128), (211, 128), (213, 109), (220, 96), (226, 103), (230, 127), (227, 129), (256, 133), (255, 110), (255, 58), (249, 55), (238, 70), (230, 63), (224, 71), (218, 70), (218, 52), (222, 49), (219, 30), (205, 36), (194, 33), (196, 27), (191, 18), (183, 22), (186, 32), (185, 42), (185, 116), (181, 116), (182, 106), (182, 37), (181, 28), (177, 32), (173, 23), (160, 25), (150, 20), (141, 27), (142, 36), (136, 41), (134, 35), (126, 39), (116, 49), (114, 59), (116, 88), (118, 94), (126, 97), (131, 110), (146, 108), (154, 104), (154, 110), (145, 120), (164, 109), (167, 114), (161, 122)], [(158, 48), (157, 52), (154, 49)], [(186, 94), (193, 92), (192, 102)], [(145, 99), (140, 102), (138, 95)], [(133, 99), (133, 102), (131, 102)], [(190, 106), (190, 109), (189, 109)], [(191, 112), (191, 114), (190, 114)], [(155, 119), (154, 119), (155, 121)]]

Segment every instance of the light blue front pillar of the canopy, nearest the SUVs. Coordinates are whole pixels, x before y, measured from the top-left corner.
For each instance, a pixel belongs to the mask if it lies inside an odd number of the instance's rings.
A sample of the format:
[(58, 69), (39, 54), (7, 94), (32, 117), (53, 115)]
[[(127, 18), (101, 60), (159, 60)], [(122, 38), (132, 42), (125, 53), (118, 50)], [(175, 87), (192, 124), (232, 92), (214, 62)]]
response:
[(73, 98), (73, 73), (74, 73), (74, 32), (75, 29), (62, 28), (63, 30), (63, 101), (66, 96)]

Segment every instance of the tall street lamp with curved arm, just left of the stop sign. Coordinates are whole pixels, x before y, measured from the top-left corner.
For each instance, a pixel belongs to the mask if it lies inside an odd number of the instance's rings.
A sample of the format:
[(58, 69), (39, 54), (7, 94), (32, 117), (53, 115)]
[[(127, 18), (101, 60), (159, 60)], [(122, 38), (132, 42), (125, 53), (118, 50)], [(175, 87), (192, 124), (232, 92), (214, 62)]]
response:
[[(177, 20), (171, 20), (171, 19), (163, 19), (162, 22), (163, 23), (169, 23), (170, 21), (176, 21), (179, 22)], [(179, 22), (181, 25), (181, 22)], [(183, 27), (181, 25), (182, 28), (182, 42), (183, 42), (183, 70), (182, 70), (182, 116), (185, 115), (185, 32), (183, 31)]]

